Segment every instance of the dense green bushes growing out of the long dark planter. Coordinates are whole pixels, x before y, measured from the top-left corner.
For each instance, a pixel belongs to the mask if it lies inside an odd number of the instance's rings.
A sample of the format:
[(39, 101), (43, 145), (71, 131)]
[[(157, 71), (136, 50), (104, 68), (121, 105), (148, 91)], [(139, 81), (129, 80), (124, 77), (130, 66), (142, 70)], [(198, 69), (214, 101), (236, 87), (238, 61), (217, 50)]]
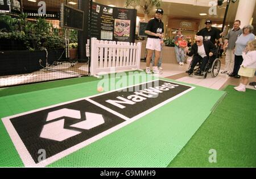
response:
[(11, 18), (11, 16), (0, 16), (10, 26), (10, 32), (0, 30), (0, 39), (20, 40), (28, 50), (64, 48), (64, 38), (59, 35), (59, 30), (53, 28), (52, 24), (46, 22), (45, 19), (36, 19), (36, 22), (26, 20), (27, 14), (21, 14), (19, 18)]

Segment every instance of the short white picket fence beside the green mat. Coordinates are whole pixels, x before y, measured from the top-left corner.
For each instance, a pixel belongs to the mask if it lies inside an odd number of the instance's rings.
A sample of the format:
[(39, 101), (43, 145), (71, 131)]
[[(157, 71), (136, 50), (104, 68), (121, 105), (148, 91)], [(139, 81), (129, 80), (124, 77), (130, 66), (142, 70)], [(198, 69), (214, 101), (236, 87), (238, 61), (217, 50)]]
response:
[(141, 43), (104, 41), (92, 38), (90, 74), (105, 74), (117, 70), (139, 69)]

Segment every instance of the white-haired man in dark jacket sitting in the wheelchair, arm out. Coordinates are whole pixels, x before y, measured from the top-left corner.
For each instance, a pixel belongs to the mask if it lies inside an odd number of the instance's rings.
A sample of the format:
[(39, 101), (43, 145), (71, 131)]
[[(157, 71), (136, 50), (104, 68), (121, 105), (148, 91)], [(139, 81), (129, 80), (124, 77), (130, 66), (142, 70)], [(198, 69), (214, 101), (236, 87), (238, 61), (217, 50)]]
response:
[[(188, 51), (188, 48), (185, 49), (188, 56), (193, 56), (193, 60), (191, 63), (191, 68), (186, 71), (189, 75), (191, 75), (194, 71), (197, 63), (201, 62), (200, 69), (195, 73), (197, 76), (203, 76), (202, 72), (204, 72), (205, 66), (210, 60), (210, 63), (216, 59), (216, 46), (211, 41), (204, 41), (203, 36), (196, 37), (196, 43), (192, 45), (191, 52)], [(188, 53), (189, 52), (189, 53)]]

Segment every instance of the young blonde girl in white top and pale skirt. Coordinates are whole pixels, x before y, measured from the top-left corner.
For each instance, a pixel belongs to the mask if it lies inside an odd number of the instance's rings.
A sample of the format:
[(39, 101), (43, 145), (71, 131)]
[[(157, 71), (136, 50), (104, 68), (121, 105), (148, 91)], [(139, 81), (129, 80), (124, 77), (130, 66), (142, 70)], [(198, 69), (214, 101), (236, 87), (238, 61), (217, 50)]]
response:
[[(246, 53), (247, 52), (247, 53)], [(234, 89), (237, 91), (245, 91), (245, 86), (249, 82), (249, 78), (254, 77), (254, 73), (256, 71), (256, 40), (249, 41), (246, 46), (245, 51), (242, 52), (243, 63), (238, 72), (240, 75), (241, 83), (239, 86)]]

